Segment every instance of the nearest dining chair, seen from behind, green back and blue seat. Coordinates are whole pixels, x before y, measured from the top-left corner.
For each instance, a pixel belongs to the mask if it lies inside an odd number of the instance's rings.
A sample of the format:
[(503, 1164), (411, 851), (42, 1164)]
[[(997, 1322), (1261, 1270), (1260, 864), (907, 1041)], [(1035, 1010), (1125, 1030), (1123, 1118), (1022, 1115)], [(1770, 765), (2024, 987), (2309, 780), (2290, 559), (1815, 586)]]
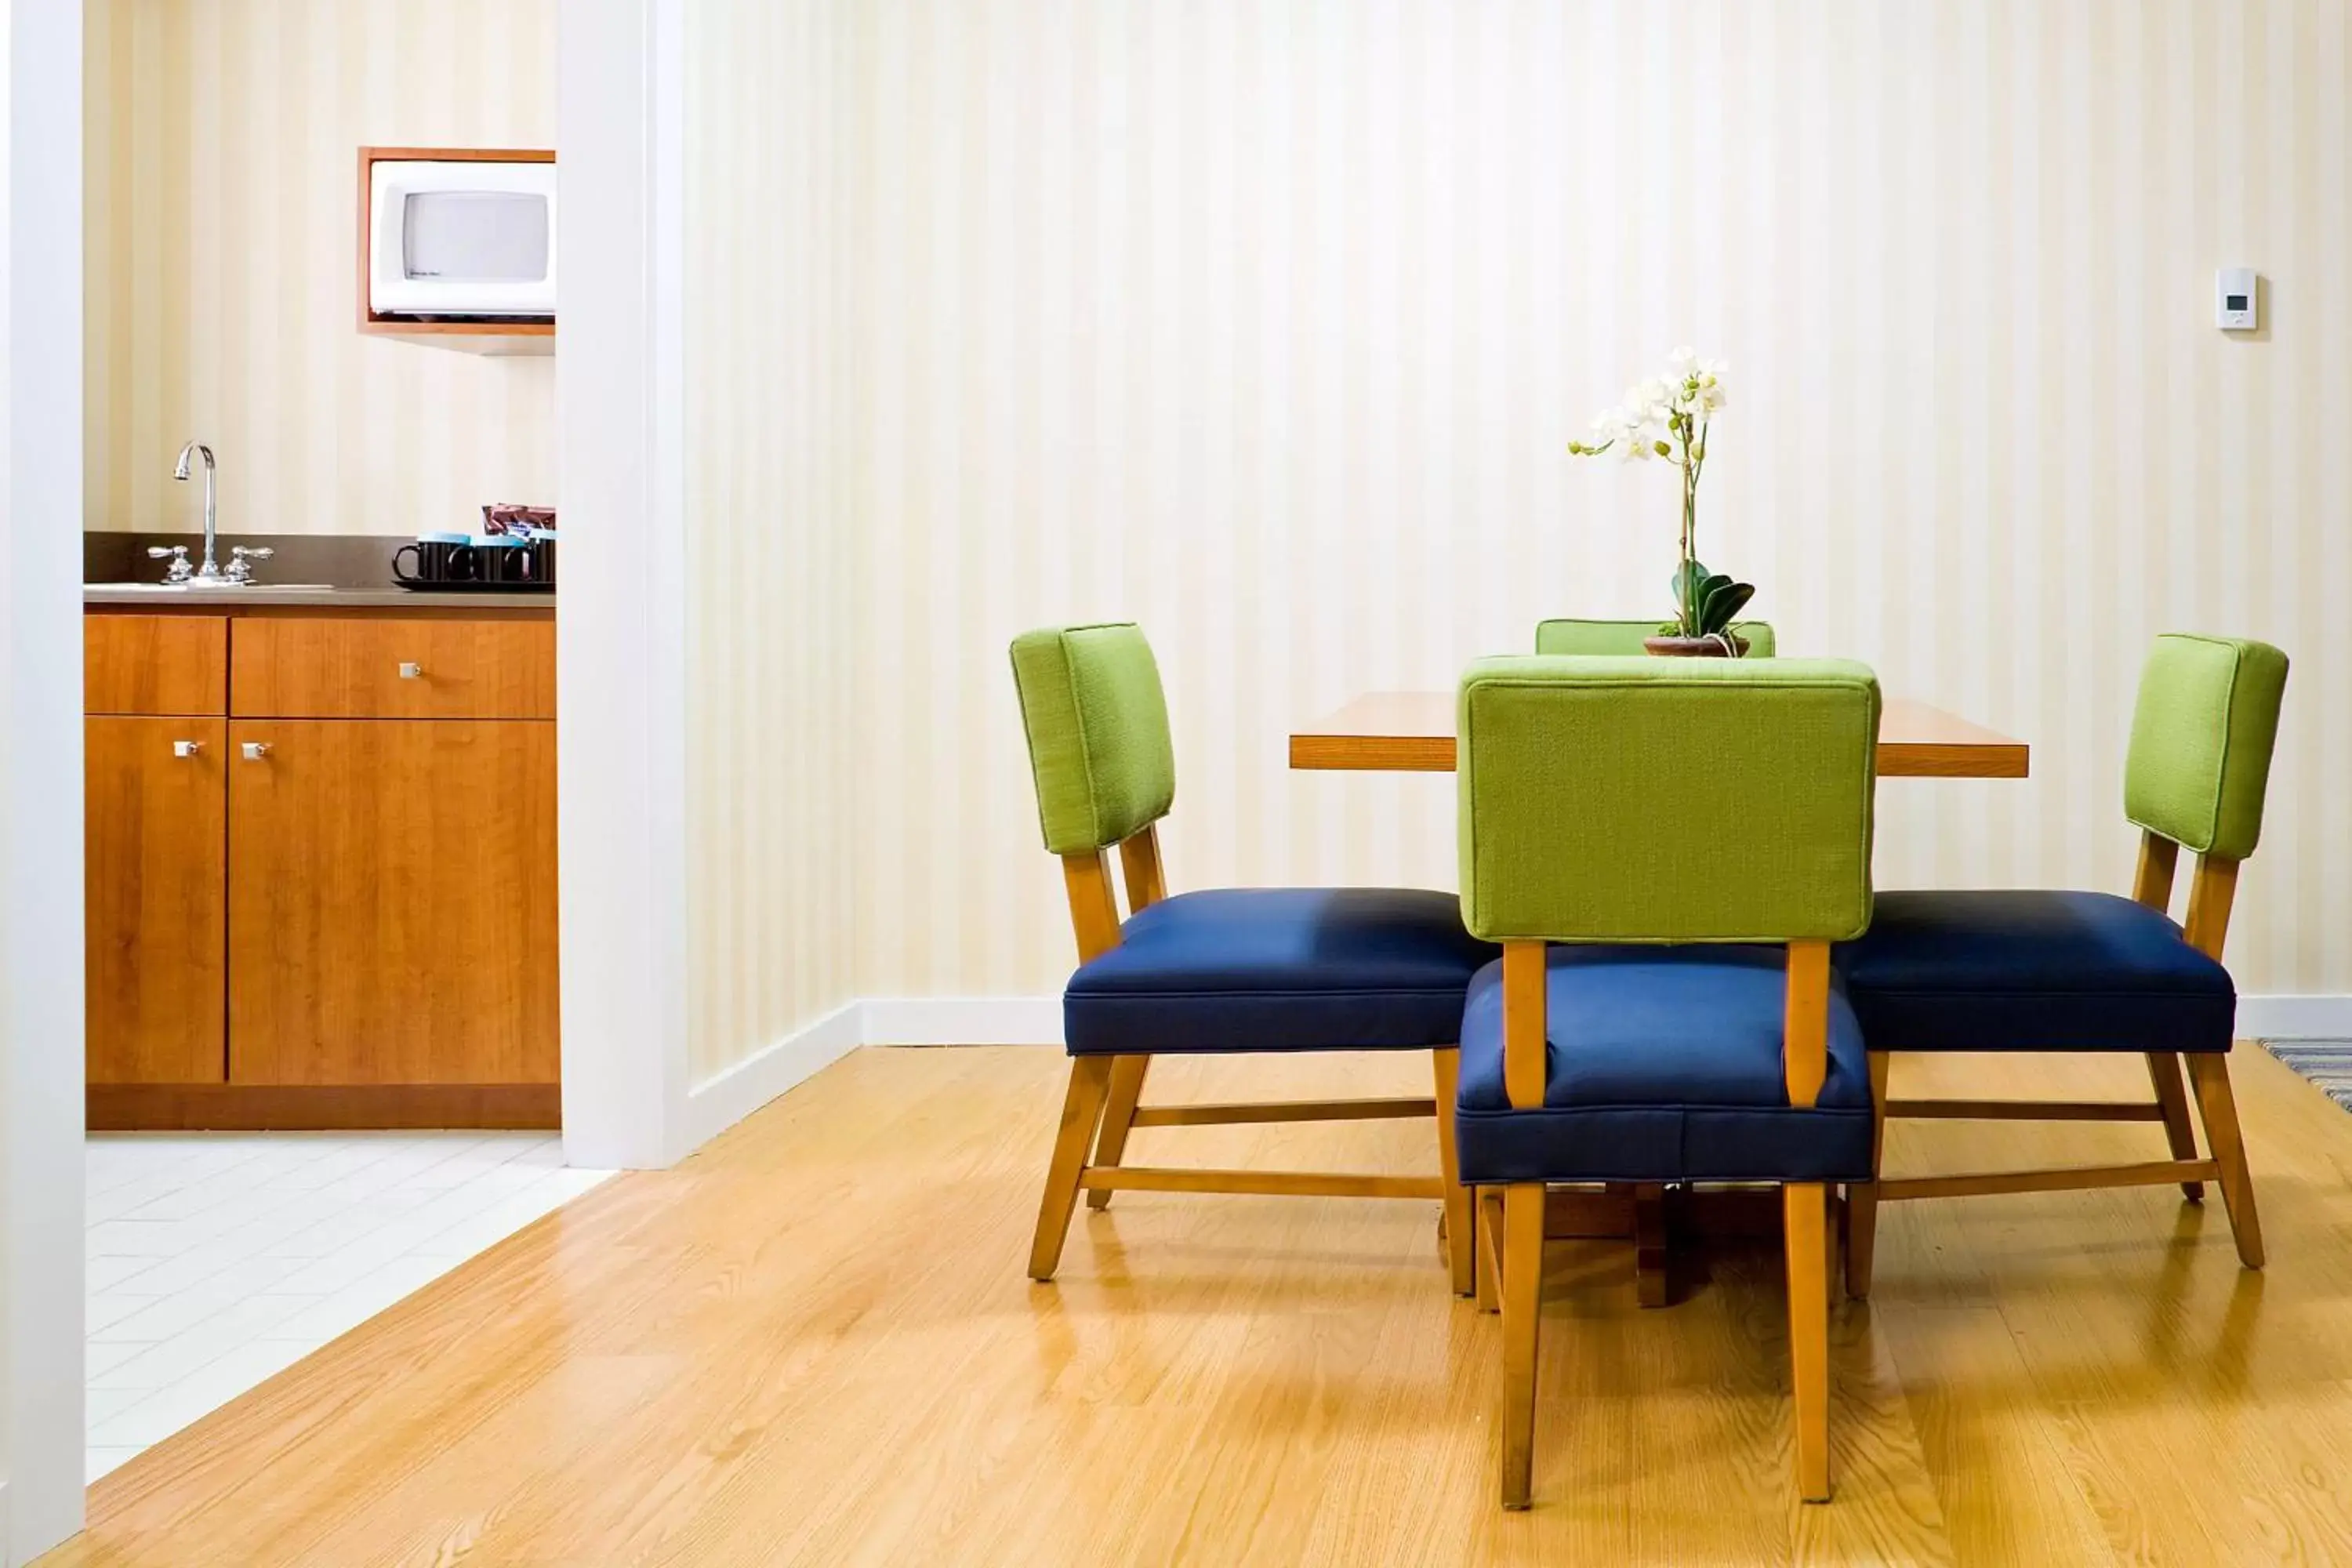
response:
[[(1870, 1074), (1830, 943), (1870, 924), (1879, 686), (1816, 658), (1489, 658), (1458, 696), (1456, 1150), (1501, 1190), (1503, 1507), (1529, 1505), (1548, 1182), (1769, 1182), (1797, 1490), (1830, 1495), (1830, 1192)], [(1482, 1237), (1491, 1227), (1482, 1227)]]

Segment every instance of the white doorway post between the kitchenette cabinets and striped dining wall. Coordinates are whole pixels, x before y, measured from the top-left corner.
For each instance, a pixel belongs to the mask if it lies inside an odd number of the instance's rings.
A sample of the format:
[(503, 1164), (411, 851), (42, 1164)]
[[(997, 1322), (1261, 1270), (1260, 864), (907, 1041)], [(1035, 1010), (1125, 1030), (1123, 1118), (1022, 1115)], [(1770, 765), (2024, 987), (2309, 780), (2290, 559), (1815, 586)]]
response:
[(564, 0), (557, 24), (555, 736), (576, 1166), (687, 1152), (684, 7)]

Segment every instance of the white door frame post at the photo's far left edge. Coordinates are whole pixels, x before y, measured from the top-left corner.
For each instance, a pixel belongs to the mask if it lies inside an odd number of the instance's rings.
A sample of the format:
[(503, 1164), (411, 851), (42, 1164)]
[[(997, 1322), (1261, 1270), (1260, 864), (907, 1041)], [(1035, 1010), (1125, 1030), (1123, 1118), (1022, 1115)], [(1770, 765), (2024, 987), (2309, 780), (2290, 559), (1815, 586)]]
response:
[(0, 1556), (82, 1523), (82, 7), (9, 0), (0, 150)]

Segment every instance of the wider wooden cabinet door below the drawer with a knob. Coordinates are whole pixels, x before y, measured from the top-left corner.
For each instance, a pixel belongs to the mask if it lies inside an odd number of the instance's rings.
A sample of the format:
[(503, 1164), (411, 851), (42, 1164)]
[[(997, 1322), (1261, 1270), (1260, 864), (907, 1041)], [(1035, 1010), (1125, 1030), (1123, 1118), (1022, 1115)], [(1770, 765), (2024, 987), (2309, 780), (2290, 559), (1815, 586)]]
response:
[(553, 1084), (555, 726), (233, 719), (228, 1079)]

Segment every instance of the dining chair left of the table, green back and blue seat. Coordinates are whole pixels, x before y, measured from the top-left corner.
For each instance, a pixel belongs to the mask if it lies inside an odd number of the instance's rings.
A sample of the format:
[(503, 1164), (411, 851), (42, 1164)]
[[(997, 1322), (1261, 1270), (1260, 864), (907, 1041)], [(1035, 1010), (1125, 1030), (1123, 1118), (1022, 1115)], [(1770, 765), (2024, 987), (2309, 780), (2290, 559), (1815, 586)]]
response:
[[(1058, 625), (1011, 644), (1044, 846), (1061, 856), (1077, 973), (1063, 990), (1070, 1088), (1047, 1166), (1030, 1276), (1051, 1279), (1077, 1194), (1117, 1190), (1439, 1199), (1456, 1295), (1472, 1288), (1470, 1194), (1451, 1110), (1463, 994), (1494, 957), (1451, 893), (1207, 889), (1167, 893), (1157, 823), (1176, 799), (1160, 665), (1131, 623)], [(1110, 884), (1117, 849), (1127, 919)], [(1141, 1105), (1155, 1056), (1428, 1051), (1430, 1098)], [(1432, 1117), (1435, 1175), (1122, 1164), (1138, 1126)]]

